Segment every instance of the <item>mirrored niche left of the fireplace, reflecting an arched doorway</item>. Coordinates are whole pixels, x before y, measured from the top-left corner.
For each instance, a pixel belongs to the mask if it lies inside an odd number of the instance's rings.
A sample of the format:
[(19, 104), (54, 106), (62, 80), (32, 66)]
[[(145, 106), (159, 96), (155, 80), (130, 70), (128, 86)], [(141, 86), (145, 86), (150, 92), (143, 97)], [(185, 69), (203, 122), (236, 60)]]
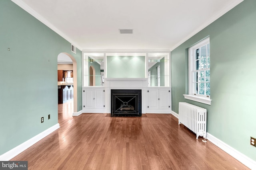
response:
[(104, 57), (86, 56), (86, 86), (104, 86)]

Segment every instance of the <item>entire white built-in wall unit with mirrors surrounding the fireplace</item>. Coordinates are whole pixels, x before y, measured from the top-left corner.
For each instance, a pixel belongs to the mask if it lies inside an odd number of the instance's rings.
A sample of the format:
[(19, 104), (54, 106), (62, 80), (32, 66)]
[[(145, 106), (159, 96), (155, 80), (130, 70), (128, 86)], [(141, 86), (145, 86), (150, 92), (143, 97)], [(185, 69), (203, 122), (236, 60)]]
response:
[(83, 113), (111, 113), (111, 90), (141, 90), (142, 113), (171, 113), (170, 51), (114, 51), (82, 51)]

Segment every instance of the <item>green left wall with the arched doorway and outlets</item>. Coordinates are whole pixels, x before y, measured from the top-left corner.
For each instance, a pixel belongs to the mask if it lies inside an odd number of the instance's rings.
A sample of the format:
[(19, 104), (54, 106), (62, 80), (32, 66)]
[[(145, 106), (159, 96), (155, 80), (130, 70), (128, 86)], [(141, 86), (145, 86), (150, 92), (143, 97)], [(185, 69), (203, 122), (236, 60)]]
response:
[(0, 1), (0, 30), (1, 155), (58, 123), (57, 57), (62, 52), (76, 59), (82, 110), (82, 66), (81, 51), (72, 53), (68, 41), (10, 0)]

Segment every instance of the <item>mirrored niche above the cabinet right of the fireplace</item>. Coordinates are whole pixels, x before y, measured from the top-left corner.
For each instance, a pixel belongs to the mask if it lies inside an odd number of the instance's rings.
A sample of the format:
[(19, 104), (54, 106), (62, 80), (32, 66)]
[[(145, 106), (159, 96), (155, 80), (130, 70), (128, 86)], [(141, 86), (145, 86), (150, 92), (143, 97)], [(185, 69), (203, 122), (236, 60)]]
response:
[(168, 59), (166, 56), (148, 57), (148, 86), (168, 86)]

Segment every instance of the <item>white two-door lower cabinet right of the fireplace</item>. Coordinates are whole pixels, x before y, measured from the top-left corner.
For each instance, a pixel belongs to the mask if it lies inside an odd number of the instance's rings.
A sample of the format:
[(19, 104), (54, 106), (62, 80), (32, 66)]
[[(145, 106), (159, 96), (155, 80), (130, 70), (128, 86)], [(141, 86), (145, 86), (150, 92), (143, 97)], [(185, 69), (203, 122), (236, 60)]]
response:
[(170, 88), (148, 88), (146, 113), (170, 113)]

